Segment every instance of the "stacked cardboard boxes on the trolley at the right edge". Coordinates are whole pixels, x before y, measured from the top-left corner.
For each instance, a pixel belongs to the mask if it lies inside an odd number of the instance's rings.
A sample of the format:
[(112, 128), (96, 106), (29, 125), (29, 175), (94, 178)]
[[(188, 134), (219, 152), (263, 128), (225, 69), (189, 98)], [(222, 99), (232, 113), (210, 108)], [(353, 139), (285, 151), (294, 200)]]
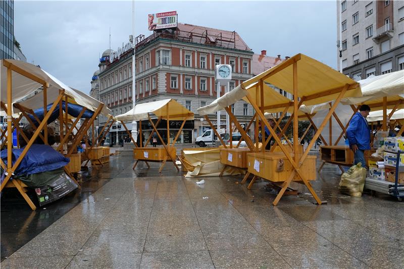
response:
[[(395, 182), (397, 151), (404, 152), (404, 137), (384, 138), (383, 162), (368, 161), (370, 178)], [(404, 166), (404, 153), (400, 154), (399, 166)], [(404, 172), (399, 173), (398, 183), (404, 184)]]

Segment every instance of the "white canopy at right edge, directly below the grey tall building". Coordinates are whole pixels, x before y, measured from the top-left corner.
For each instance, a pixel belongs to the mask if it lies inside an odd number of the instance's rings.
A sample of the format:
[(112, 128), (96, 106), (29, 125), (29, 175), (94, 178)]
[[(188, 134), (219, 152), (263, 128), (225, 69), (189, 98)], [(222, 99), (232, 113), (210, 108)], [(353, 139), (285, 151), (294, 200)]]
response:
[(342, 104), (361, 104), (385, 96), (396, 96), (397, 100), (400, 97), (404, 98), (404, 70), (380, 76), (372, 75), (358, 82), (361, 84), (363, 96), (343, 98), (341, 99)]

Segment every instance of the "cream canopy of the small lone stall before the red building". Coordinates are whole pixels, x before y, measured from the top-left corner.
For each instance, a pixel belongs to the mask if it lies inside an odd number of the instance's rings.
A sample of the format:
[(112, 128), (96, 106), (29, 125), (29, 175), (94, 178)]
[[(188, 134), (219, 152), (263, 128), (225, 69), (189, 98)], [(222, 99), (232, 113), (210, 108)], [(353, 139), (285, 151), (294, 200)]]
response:
[(118, 121), (142, 121), (148, 119), (149, 113), (162, 117), (162, 119), (167, 119), (168, 115), (169, 120), (173, 121), (184, 120), (185, 118), (193, 120), (193, 113), (172, 98), (136, 104), (130, 111), (116, 116), (116, 119)]

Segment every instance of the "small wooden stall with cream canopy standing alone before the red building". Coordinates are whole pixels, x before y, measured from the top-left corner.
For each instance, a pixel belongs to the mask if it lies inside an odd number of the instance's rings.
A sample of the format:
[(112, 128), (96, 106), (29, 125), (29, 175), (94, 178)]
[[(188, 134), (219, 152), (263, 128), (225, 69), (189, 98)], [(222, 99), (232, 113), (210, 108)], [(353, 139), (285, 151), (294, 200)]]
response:
[[(153, 121), (151, 117), (158, 117)], [(139, 147), (133, 149), (133, 158), (136, 159), (133, 169), (136, 168), (139, 161), (142, 162), (161, 162), (162, 165), (159, 169), (161, 173), (166, 162), (172, 162), (175, 168), (179, 171), (176, 165), (176, 148), (175, 143), (181, 134), (182, 128), (187, 120), (193, 120), (193, 113), (187, 110), (182, 104), (178, 103), (174, 99), (164, 99), (160, 101), (148, 102), (137, 104), (132, 110), (125, 114), (118, 115), (116, 117), (118, 121), (139, 121)], [(149, 135), (147, 141), (143, 145), (141, 122), (147, 120), (153, 127), (153, 131)], [(160, 134), (156, 126), (161, 120), (167, 122), (167, 134)], [(173, 140), (170, 141), (170, 121), (182, 121), (182, 125), (179, 128)], [(163, 147), (147, 147), (151, 138), (156, 135)], [(163, 139), (163, 136), (166, 139)]]

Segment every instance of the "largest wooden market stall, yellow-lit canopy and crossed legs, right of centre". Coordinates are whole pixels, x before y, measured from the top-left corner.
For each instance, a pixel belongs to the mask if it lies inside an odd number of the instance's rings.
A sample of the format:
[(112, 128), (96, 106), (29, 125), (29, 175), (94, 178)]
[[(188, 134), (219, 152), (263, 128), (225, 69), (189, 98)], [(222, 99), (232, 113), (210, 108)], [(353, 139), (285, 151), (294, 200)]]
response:
[[(258, 87), (254, 90), (248, 90), (246, 87), (253, 83), (257, 83)], [(293, 101), (287, 103), (278, 103), (266, 105), (266, 101), (271, 99), (271, 95), (264, 94), (264, 84), (274, 85), (280, 89), (293, 93)], [(274, 181), (272, 175), (277, 173), (273, 162), (284, 160), (284, 167), (290, 167), (286, 170), (287, 173), (278, 178), (276, 182), (280, 183), (280, 191), (275, 198), (273, 204), (277, 205), (282, 195), (285, 193), (292, 180), (305, 184), (318, 204), (321, 204), (320, 198), (317, 196), (309, 180), (314, 180), (313, 174), (307, 174), (306, 171), (315, 170), (315, 162), (312, 158), (308, 158), (310, 149), (315, 141), (320, 136), (327, 121), (335, 111), (336, 106), (342, 97), (359, 97), (361, 96), (359, 84), (354, 80), (344, 76), (343, 74), (331, 69), (330, 67), (302, 54), (295, 55), (281, 64), (261, 73), (260, 75), (244, 81), (232, 91), (224, 94), (216, 99), (213, 103), (200, 107), (199, 115), (207, 115), (215, 113), (221, 109), (226, 109), (231, 120), (237, 126), (244, 140), (248, 140), (245, 132), (237, 124), (237, 119), (231, 113), (229, 105), (237, 100), (244, 99), (248, 101), (255, 109), (262, 127), (264, 125), (275, 140), (275, 144), (279, 145), (281, 153), (273, 152), (258, 152), (255, 148), (254, 153), (247, 153), (248, 172), (254, 175), (251, 182), (254, 182), (257, 177)], [(314, 105), (334, 100), (329, 112), (324, 118), (322, 124), (318, 127), (313, 139), (309, 143), (308, 148), (302, 154), (299, 154), (299, 143), (293, 143), (292, 153), (288, 152), (285, 146), (281, 143), (280, 138), (275, 133), (275, 130), (270, 126), (264, 116), (265, 111), (275, 109), (276, 107), (292, 107), (292, 116), (290, 121), (293, 121), (293, 141), (298, 140), (298, 110), (301, 104)], [(284, 132), (285, 130), (282, 130)], [(281, 134), (282, 134), (281, 132)], [(283, 134), (282, 134), (283, 135)], [(248, 144), (248, 143), (247, 143)], [(265, 147), (263, 147), (265, 150)], [(272, 150), (272, 149), (271, 149)], [(261, 155), (258, 155), (260, 153)], [(272, 156), (272, 157), (266, 157)], [(286, 164), (287, 163), (287, 164)], [(290, 165), (290, 166), (289, 166)], [(268, 171), (262, 173), (262, 171)], [(314, 174), (315, 175), (315, 174)]]

